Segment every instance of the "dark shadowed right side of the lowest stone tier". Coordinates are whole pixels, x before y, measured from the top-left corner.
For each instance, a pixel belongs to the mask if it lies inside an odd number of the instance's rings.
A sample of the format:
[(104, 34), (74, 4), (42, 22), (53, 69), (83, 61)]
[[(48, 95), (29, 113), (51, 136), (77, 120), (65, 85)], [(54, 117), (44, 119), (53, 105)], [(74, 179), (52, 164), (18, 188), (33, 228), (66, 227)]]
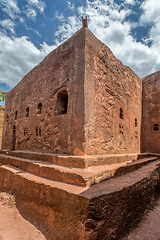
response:
[(160, 160), (95, 184), (80, 195), (90, 199), (85, 226), (93, 239), (122, 239), (160, 196)]

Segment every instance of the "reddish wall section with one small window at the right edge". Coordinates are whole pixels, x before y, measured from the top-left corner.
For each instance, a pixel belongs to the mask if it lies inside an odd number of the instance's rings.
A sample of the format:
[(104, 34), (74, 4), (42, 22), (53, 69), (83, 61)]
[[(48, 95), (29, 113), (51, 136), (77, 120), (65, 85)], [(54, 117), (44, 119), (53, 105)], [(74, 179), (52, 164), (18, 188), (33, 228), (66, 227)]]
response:
[(160, 71), (143, 78), (142, 152), (160, 153), (159, 99)]

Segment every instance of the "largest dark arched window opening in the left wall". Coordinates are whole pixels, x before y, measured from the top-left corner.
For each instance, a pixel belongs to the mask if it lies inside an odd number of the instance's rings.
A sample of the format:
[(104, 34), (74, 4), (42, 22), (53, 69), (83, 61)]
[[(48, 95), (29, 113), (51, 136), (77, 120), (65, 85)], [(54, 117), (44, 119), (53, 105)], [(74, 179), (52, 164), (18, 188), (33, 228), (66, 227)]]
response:
[(68, 107), (68, 93), (66, 90), (63, 90), (59, 92), (57, 95), (55, 115), (66, 114), (67, 107)]

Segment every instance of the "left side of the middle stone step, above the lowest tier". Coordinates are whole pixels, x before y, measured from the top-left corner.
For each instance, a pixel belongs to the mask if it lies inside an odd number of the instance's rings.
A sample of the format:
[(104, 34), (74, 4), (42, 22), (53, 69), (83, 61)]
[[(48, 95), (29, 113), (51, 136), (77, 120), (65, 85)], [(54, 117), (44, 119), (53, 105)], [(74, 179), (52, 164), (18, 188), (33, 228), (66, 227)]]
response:
[(3, 164), (10, 164), (21, 170), (33, 173), (43, 178), (61, 181), (77, 186), (86, 186), (86, 181), (83, 178), (85, 169), (82, 168), (68, 168), (49, 162), (24, 159), (4, 154), (0, 154), (0, 161)]

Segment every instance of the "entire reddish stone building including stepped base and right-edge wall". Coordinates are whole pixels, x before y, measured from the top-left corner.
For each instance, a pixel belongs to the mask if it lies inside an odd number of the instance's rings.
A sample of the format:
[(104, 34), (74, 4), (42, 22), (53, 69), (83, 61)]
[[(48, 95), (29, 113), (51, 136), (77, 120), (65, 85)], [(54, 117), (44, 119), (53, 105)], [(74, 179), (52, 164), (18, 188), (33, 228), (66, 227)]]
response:
[(153, 207), (160, 159), (140, 152), (159, 151), (159, 76), (140, 79), (84, 20), (7, 93), (0, 191), (46, 239), (122, 239)]

